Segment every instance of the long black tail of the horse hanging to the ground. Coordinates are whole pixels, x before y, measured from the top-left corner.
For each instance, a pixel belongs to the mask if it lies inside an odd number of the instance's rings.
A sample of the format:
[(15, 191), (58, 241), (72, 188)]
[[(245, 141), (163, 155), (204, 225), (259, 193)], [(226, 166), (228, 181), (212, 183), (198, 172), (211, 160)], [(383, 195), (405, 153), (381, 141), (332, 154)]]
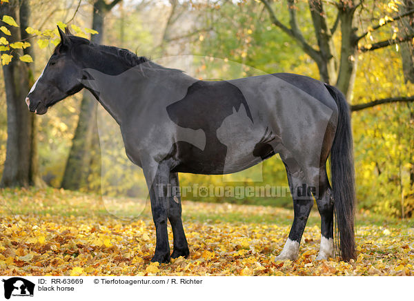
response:
[[(351, 116), (346, 98), (337, 88), (325, 84), (338, 107), (338, 126), (331, 148), (331, 174), (334, 211), (339, 230), (342, 260), (356, 257), (354, 234), (355, 172)], [(337, 231), (335, 231), (337, 232)]]

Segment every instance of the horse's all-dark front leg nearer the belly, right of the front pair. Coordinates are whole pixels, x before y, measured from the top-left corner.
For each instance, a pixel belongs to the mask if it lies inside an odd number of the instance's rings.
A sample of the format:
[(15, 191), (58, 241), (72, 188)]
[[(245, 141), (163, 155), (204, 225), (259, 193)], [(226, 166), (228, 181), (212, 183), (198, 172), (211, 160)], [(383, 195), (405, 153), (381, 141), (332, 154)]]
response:
[(186, 234), (184, 233), (181, 220), (181, 196), (179, 193), (178, 173), (170, 173), (170, 185), (172, 195), (170, 196), (168, 220), (170, 220), (172, 235), (174, 235), (174, 249), (172, 250), (171, 258), (187, 257), (190, 254), (190, 250), (188, 249)]

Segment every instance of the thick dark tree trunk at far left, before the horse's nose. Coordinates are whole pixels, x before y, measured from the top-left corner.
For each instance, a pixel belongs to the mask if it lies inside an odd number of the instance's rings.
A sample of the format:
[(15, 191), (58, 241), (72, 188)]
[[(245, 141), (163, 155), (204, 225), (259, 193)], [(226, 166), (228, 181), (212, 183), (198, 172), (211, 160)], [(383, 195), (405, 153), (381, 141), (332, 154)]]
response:
[[(30, 17), (28, 0), (13, 0), (0, 4), (0, 15), (3, 14), (13, 17), (21, 26), (16, 28), (6, 25), (12, 35), (6, 36), (1, 33), (0, 37), (6, 37), (10, 43), (20, 41)], [(41, 184), (37, 169), (36, 117), (29, 112), (24, 101), (30, 90), (30, 77), (33, 77), (33, 74), (30, 66), (19, 60), (19, 56), (23, 55), (22, 50), (15, 49), (12, 55), (14, 57), (10, 64), (3, 66), (8, 137), (1, 186)]]

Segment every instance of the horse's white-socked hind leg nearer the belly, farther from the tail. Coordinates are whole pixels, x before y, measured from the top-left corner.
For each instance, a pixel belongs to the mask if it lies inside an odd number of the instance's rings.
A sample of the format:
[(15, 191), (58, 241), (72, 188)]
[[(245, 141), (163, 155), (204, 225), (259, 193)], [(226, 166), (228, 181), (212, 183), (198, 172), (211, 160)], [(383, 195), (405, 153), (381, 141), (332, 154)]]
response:
[[(288, 240), (286, 240), (282, 252), (275, 258), (276, 261), (297, 259), (300, 241), (302, 240), (309, 213), (311, 213), (313, 207), (313, 197), (308, 196), (307, 191), (301, 191), (299, 193), (299, 190), (303, 190), (303, 184), (307, 186), (303, 180), (303, 173), (298, 168), (295, 171), (291, 171), (286, 163), (285, 167), (288, 175), (290, 193), (293, 198), (294, 217)], [(302, 193), (305, 193), (305, 195), (302, 195)]]

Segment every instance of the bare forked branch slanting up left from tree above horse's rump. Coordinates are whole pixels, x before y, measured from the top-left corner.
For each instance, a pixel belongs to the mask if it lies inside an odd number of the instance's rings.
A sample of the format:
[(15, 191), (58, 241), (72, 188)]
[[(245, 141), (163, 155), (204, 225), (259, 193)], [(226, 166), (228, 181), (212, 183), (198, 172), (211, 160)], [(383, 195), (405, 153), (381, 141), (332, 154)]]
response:
[[(289, 6), (289, 14), (290, 14), (290, 26), (292, 28), (288, 28), (285, 26), (279, 19), (277, 19), (275, 12), (273, 11), (272, 7), (270, 6), (270, 3), (266, 0), (260, 0), (264, 4), (264, 7), (269, 13), (270, 21), (275, 24), (278, 28), (282, 29), (287, 35), (290, 35), (290, 37), (293, 37), (296, 39), (296, 41), (299, 43), (299, 45), (302, 47), (304, 52), (306, 52), (310, 57), (312, 57), (315, 61), (320, 61), (321, 55), (318, 50), (315, 50), (311, 45), (309, 45), (304, 37), (302, 36), (302, 33), (300, 32), (299, 28), (297, 27), (297, 19), (296, 19), (296, 13), (293, 11), (295, 8), (292, 8)], [(289, 2), (293, 2), (289, 0)]]

